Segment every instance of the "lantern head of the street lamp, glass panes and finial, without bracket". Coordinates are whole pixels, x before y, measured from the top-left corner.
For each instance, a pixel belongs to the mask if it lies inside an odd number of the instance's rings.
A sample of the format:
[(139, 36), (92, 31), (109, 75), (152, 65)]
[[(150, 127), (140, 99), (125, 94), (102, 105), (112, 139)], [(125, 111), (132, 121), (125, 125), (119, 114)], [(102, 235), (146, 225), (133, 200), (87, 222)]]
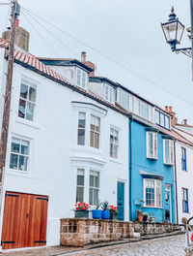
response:
[(177, 44), (180, 44), (184, 31), (184, 25), (181, 24), (174, 11), (174, 7), (172, 7), (169, 20), (165, 23), (161, 23), (166, 42), (171, 46), (173, 51), (177, 49)]

